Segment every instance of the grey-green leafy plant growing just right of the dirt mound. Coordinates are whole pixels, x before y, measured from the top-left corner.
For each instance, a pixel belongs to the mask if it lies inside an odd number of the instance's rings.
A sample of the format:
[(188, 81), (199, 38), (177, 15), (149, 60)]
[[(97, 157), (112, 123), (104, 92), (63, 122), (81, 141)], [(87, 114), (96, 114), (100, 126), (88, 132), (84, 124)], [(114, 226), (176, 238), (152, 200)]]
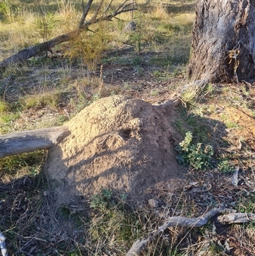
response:
[(211, 167), (214, 149), (208, 144), (205, 147), (203, 147), (202, 143), (192, 144), (192, 141), (192, 133), (187, 132), (185, 139), (177, 146), (179, 163), (181, 165), (190, 165), (195, 170), (208, 169)]

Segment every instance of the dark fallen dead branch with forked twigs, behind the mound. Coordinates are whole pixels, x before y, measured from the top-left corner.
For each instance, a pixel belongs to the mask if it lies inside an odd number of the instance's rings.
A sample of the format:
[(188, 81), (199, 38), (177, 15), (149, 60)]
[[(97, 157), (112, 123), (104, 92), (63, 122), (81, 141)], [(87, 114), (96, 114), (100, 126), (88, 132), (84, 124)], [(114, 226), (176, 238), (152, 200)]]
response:
[[(40, 54), (41, 52), (51, 50), (55, 45), (59, 45), (60, 43), (64, 43), (65, 41), (70, 41), (82, 33), (83, 31), (88, 31), (89, 26), (96, 24), (98, 22), (103, 22), (103, 21), (110, 21), (117, 15), (120, 15), (120, 13), (125, 13), (128, 11), (134, 11), (136, 8), (132, 7), (131, 3), (126, 4), (128, 1), (131, 0), (125, 0), (124, 3), (120, 4), (119, 7), (112, 13), (105, 15), (105, 12), (98, 17), (99, 11), (101, 10), (101, 7), (103, 5), (103, 2), (105, 0), (101, 0), (100, 3), (98, 4), (98, 8), (96, 9), (93, 17), (86, 21), (86, 17), (89, 14), (89, 11), (91, 10), (91, 4), (94, 0), (89, 0), (87, 3), (87, 6), (84, 9), (84, 12), (82, 13), (82, 18), (80, 19), (80, 23), (78, 24), (77, 29), (74, 31), (71, 31), (66, 34), (61, 34), (60, 36), (56, 36), (52, 40), (45, 41), (43, 43), (39, 43), (38, 45), (34, 45), (28, 48), (25, 48), (18, 52), (17, 54), (14, 54), (13, 56), (9, 57), (8, 59), (4, 59), (4, 61), (0, 62), (0, 70), (3, 68), (6, 68), (10, 64), (15, 64), (15, 63), (21, 63), (22, 61), (26, 61), (27, 59), (36, 56)], [(112, 1), (110, 2), (112, 4)], [(110, 4), (108, 4), (106, 10), (109, 9)], [(130, 7), (131, 6), (131, 7)]]

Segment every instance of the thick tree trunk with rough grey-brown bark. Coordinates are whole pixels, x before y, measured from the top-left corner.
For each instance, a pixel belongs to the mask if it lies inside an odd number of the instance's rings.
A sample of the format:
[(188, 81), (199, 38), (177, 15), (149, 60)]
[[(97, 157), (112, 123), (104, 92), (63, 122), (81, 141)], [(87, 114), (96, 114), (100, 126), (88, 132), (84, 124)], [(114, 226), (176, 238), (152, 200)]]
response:
[(255, 0), (197, 0), (189, 76), (210, 82), (255, 79)]

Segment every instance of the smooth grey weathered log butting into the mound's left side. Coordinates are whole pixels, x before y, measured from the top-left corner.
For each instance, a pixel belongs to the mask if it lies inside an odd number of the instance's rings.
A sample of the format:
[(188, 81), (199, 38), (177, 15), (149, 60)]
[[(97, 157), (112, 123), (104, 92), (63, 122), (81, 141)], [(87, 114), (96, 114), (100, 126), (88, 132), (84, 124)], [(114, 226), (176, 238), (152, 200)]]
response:
[(0, 136), (0, 158), (49, 149), (69, 135), (65, 126), (15, 132)]

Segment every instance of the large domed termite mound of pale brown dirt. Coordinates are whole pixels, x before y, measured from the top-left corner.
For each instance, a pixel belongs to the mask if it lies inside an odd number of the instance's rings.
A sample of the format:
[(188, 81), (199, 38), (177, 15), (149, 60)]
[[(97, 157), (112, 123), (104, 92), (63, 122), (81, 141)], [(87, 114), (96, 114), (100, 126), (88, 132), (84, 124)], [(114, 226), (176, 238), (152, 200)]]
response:
[(141, 202), (157, 186), (179, 186), (174, 121), (173, 107), (124, 96), (86, 107), (66, 124), (71, 135), (50, 149), (45, 163), (60, 201), (108, 188)]

